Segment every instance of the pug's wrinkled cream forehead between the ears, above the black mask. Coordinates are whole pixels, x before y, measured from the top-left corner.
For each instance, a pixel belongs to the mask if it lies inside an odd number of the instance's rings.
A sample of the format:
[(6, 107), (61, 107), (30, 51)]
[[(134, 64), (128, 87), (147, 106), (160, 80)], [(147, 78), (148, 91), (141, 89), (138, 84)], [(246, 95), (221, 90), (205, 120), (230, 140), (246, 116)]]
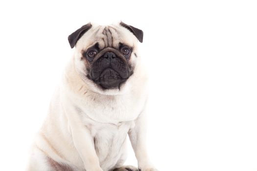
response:
[(137, 38), (126, 28), (117, 25), (92, 26), (77, 42), (76, 48), (86, 50), (98, 43), (99, 48), (118, 48), (120, 43), (134, 47), (138, 42)]

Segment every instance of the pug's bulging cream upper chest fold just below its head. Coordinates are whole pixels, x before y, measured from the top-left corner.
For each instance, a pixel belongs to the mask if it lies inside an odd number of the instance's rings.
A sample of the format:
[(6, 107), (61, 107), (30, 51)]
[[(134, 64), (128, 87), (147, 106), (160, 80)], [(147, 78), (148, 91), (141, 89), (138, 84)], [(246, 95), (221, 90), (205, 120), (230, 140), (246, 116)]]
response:
[[(120, 97), (94, 96), (85, 100), (80, 108), (93, 121), (117, 125), (120, 122), (135, 120), (142, 111), (145, 100), (144, 97), (133, 94)], [(88, 119), (87, 117), (83, 119)]]

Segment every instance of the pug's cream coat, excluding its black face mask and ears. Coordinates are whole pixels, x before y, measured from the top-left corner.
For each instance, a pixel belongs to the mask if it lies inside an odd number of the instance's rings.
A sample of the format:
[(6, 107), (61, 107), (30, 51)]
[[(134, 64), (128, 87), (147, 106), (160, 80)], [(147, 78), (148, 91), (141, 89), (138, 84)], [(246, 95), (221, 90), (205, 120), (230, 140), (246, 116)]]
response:
[(141, 171), (157, 171), (145, 148), (147, 76), (138, 54), (137, 38), (118, 24), (108, 26), (114, 46), (122, 42), (134, 47), (130, 59), (134, 74), (120, 90), (102, 90), (85, 76), (81, 51), (95, 42), (103, 47), (101, 32), (105, 27), (93, 24), (77, 42), (35, 138), (26, 171), (56, 171), (48, 158), (73, 171), (112, 171), (122, 167), (126, 159), (127, 134)]

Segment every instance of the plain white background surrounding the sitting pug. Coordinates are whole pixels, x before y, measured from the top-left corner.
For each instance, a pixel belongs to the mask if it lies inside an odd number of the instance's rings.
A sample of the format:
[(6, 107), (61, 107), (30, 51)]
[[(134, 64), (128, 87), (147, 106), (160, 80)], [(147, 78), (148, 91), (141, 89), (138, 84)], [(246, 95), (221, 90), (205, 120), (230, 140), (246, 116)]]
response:
[[(0, 170), (22, 171), (89, 21), (144, 31), (148, 149), (160, 171), (257, 171), (255, 0), (0, 2)], [(130, 148), (127, 164), (137, 165)]]

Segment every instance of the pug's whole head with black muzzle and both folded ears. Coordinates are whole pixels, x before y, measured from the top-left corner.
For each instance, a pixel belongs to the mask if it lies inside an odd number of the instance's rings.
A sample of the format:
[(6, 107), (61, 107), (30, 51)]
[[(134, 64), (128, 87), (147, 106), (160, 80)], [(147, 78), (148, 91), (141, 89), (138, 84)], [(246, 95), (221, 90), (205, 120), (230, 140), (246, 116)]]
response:
[(137, 42), (143, 32), (123, 22), (108, 26), (88, 23), (69, 36), (76, 46), (74, 64), (81, 79), (98, 91), (119, 90), (133, 75)]

